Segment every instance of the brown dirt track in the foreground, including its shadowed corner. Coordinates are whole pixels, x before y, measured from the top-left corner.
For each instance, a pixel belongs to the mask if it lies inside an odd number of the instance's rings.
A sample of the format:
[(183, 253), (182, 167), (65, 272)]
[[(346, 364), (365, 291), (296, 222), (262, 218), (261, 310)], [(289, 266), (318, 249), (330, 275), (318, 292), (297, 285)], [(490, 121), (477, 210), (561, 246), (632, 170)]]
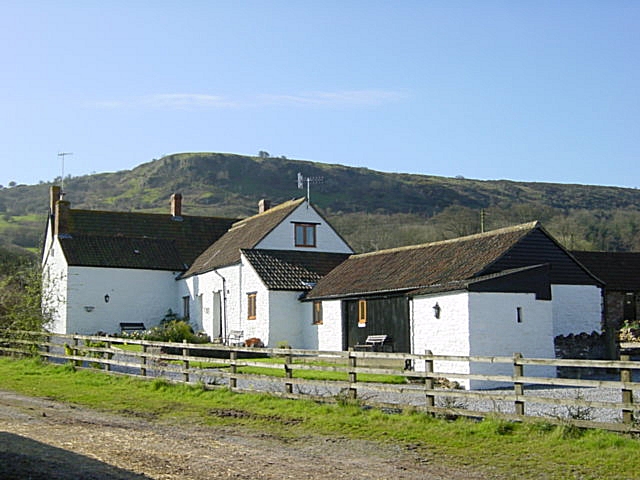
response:
[(2, 479), (485, 479), (412, 446), (173, 425), (0, 391)]

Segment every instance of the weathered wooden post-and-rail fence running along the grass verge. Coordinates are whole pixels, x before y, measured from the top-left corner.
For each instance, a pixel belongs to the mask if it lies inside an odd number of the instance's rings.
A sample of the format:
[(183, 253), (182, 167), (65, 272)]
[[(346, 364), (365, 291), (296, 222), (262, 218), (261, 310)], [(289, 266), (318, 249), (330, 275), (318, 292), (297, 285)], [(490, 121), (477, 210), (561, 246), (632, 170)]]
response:
[[(78, 368), (207, 388), (264, 391), (290, 398), (407, 407), (445, 416), (529, 417), (587, 428), (640, 432), (640, 362), (513, 356), (451, 356), (370, 351), (316, 351), (152, 342), (47, 332), (0, 332), (0, 354), (39, 356)], [(482, 373), (453, 365), (482, 365)], [(573, 377), (526, 375), (540, 367), (572, 369)], [(492, 373), (491, 369), (499, 373)], [(508, 371), (508, 373), (506, 373)], [(488, 372), (488, 373), (487, 373)], [(595, 372), (595, 373), (594, 373)], [(492, 388), (465, 390), (456, 382)]]

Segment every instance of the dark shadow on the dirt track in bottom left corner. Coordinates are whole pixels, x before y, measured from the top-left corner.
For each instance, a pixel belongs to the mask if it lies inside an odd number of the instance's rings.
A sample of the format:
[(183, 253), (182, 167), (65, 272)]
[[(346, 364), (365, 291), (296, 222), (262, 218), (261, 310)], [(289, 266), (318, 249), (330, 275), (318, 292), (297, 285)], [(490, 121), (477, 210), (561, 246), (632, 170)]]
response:
[(0, 478), (3, 480), (148, 480), (150, 477), (20, 435), (0, 432)]

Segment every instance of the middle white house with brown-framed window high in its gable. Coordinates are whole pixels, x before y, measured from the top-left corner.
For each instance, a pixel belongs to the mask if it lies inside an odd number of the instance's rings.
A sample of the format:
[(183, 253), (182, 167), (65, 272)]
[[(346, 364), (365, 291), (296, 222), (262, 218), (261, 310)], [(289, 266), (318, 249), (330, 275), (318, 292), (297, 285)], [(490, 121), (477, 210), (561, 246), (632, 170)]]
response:
[(352, 253), (306, 199), (263, 201), (181, 277), (183, 313), (212, 338), (317, 348), (312, 305), (300, 298)]

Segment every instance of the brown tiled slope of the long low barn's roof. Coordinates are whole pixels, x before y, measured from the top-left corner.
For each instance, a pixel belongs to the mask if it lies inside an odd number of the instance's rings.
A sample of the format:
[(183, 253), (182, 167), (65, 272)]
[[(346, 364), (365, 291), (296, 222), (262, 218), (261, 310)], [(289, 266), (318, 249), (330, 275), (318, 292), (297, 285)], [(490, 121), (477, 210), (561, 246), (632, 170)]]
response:
[(495, 273), (491, 266), (539, 228), (532, 222), (453, 240), (354, 255), (320, 280), (307, 298), (407, 292)]

